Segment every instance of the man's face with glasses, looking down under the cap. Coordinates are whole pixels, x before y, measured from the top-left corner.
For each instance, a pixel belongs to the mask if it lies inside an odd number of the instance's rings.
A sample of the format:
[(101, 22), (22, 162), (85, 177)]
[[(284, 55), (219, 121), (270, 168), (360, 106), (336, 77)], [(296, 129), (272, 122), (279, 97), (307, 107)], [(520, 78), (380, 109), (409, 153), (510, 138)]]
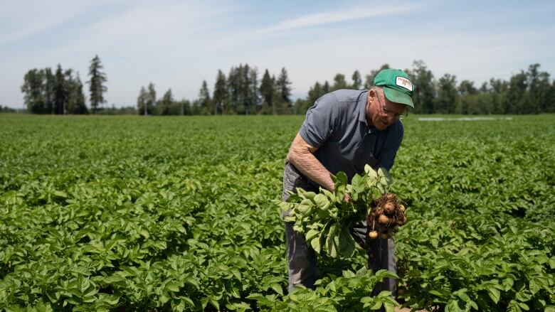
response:
[(366, 103), (366, 122), (378, 130), (394, 124), (406, 112), (406, 105), (389, 101), (384, 90), (371, 89)]

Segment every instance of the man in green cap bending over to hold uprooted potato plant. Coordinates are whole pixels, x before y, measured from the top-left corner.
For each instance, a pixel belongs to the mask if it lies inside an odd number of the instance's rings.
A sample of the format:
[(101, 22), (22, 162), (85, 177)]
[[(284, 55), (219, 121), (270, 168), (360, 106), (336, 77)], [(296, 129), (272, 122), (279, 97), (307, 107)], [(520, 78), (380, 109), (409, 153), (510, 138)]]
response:
[[(403, 140), (403, 124), (413, 85), (401, 70), (381, 70), (370, 90), (337, 90), (317, 99), (307, 111), (305, 122), (293, 140), (283, 176), (282, 199), (287, 190), (303, 188), (318, 192), (319, 187), (334, 190), (330, 173), (347, 173), (349, 183), (355, 173), (364, 173), (364, 165), (377, 170), (393, 166)], [(349, 200), (349, 198), (346, 198)], [(287, 215), (287, 213), (284, 213)], [(366, 221), (351, 230), (369, 255), (369, 268), (396, 272), (394, 245), (391, 238), (370, 240)], [(307, 246), (305, 237), (285, 222), (289, 290), (302, 284), (314, 288), (316, 254)], [(386, 279), (374, 291), (389, 290), (395, 294), (393, 279)]]

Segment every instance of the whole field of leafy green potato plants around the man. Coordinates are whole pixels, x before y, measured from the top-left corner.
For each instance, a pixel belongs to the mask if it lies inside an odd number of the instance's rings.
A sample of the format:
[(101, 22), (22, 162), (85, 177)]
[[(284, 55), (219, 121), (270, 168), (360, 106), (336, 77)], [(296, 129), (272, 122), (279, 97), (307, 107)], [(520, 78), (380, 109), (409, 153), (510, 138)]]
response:
[[(391, 171), (397, 303), (555, 311), (555, 115), (419, 117)], [(0, 114), (0, 311), (391, 306), (358, 247), (287, 295), (273, 200), (302, 120)]]

